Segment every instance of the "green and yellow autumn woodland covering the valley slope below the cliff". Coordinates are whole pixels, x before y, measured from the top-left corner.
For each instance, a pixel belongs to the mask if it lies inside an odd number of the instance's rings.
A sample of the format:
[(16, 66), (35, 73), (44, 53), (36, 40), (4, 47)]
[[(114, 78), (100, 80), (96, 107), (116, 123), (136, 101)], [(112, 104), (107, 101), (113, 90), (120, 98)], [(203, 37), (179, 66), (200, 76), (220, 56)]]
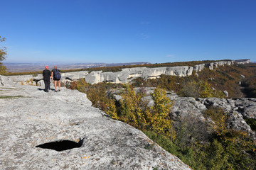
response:
[[(80, 79), (68, 88), (86, 93), (93, 106), (142, 130), (193, 169), (256, 169), (255, 141), (246, 132), (227, 128), (229, 115), (225, 111), (209, 108), (204, 117), (213, 120), (210, 122), (202, 123), (191, 117), (174, 123), (171, 118), (174, 101), (166, 96), (166, 91), (174, 91), (178, 96), (195, 98), (256, 97), (255, 68), (255, 64), (234, 64), (214, 70), (205, 68), (189, 77), (161, 75), (159, 79), (146, 81), (134, 79), (130, 84), (92, 85)], [(141, 89), (135, 92), (135, 87)], [(144, 99), (144, 87), (156, 87), (150, 94), (153, 106)], [(119, 91), (122, 100), (117, 101), (111, 91)], [(228, 96), (223, 91), (228, 91)], [(255, 130), (255, 120), (248, 124)]]

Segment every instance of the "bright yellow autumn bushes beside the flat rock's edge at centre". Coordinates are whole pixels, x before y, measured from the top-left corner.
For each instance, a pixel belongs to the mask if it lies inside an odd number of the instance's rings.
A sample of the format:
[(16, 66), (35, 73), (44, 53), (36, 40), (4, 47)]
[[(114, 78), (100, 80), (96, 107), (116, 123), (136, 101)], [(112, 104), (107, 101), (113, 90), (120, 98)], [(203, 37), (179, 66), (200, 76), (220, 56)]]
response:
[(132, 87), (127, 84), (122, 94), (120, 116), (117, 119), (129, 123), (135, 128), (153, 130), (175, 139), (176, 132), (169, 116), (174, 102), (166, 96), (166, 91), (160, 88), (154, 90), (154, 93), (151, 94), (154, 106), (151, 107), (147, 106), (143, 97), (143, 94), (136, 94)]

